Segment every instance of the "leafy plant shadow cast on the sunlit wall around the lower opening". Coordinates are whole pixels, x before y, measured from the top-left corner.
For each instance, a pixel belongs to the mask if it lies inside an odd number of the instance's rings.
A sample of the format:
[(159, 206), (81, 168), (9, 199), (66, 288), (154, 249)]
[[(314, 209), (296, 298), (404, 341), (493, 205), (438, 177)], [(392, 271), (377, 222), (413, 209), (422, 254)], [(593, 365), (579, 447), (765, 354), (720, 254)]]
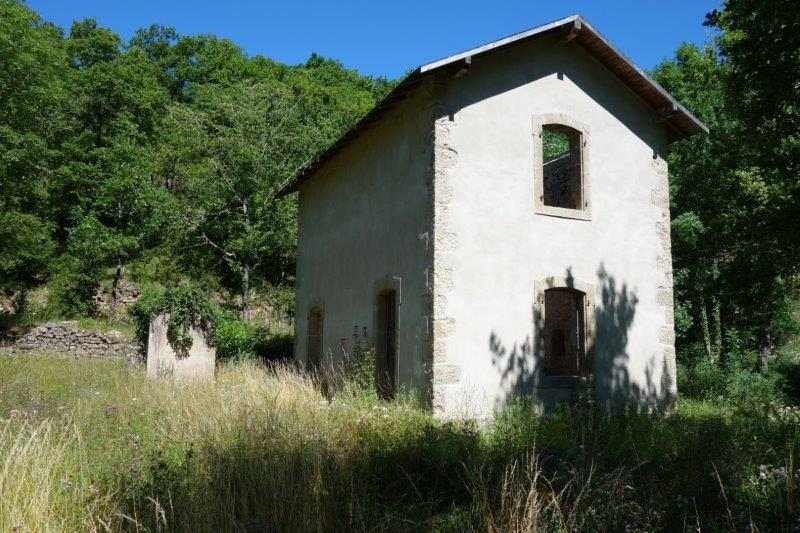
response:
[[(564, 277), (566, 287), (576, 288), (571, 268), (567, 268)], [(594, 387), (595, 399), (614, 411), (668, 409), (674, 401), (674, 376), (668, 370), (661, 348), (656, 349), (657, 354), (631, 354), (628, 351), (628, 335), (639, 303), (636, 292), (626, 283), (619, 285), (602, 264), (597, 270), (596, 287), (594, 306), (587, 317), (587, 329), (593, 329), (593, 333), (586, 349), (591, 373), (588, 383)], [(534, 303), (534, 339), (527, 336), (509, 347), (497, 333), (489, 335), (492, 364), (500, 372), (503, 388), (507, 391), (506, 398), (500, 399), (497, 407), (502, 407), (515, 397), (533, 395), (544, 412), (552, 412), (559, 403), (576, 398), (581, 383), (579, 379), (547, 376), (540, 367), (544, 354), (542, 311), (542, 305)], [(657, 335), (655, 329), (652, 335)], [(655, 338), (653, 345), (660, 346)], [(632, 365), (634, 359), (644, 358), (647, 358), (645, 365), (638, 361)], [(655, 372), (657, 365), (661, 365), (658, 376)], [(642, 366), (641, 375), (637, 375)]]

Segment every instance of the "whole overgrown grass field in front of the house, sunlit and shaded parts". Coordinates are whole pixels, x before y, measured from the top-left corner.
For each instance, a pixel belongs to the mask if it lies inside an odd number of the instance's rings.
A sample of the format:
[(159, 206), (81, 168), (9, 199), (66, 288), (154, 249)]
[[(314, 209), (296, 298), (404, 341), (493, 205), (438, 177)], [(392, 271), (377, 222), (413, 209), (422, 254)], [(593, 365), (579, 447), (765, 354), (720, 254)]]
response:
[(519, 403), (479, 430), (251, 362), (175, 387), (0, 356), (0, 531), (789, 531), (798, 419), (761, 408)]

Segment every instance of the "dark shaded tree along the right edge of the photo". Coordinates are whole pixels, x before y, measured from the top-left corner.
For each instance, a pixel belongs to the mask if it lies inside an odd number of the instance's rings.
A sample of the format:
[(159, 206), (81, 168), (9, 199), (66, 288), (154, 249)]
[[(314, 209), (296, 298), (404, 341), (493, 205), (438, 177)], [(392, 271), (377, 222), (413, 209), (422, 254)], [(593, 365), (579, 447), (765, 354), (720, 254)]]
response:
[(738, 165), (747, 219), (732, 272), (750, 289), (745, 301), (758, 301), (750, 310), (766, 366), (776, 304), (800, 272), (800, 11), (792, 0), (727, 0), (706, 24), (721, 30), (724, 95), (749, 163)]

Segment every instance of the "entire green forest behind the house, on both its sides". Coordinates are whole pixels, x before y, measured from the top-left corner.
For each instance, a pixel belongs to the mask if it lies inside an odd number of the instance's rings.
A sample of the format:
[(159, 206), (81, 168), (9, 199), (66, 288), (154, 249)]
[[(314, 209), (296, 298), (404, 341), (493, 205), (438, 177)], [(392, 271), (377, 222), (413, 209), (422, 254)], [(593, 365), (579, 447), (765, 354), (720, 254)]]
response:
[[(699, 362), (724, 368), (731, 354), (766, 370), (794, 329), (795, 7), (729, 0), (704, 22), (712, 42), (684, 44), (652, 72), (711, 129), (669, 154), (689, 373)], [(296, 199), (276, 188), (393, 83), (318, 55), (288, 66), (159, 25), (128, 41), (93, 19), (66, 31), (17, 0), (0, 0), (0, 57), (5, 323), (44, 286), (48, 313), (92, 315), (97, 288), (114, 294), (122, 278), (189, 280), (244, 320), (254, 298), (290, 314)]]

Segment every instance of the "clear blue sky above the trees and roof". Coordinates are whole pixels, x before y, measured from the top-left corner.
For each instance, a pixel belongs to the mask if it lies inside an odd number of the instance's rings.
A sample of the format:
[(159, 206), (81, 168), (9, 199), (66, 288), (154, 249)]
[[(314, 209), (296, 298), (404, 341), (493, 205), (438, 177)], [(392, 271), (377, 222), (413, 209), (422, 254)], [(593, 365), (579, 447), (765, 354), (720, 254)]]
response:
[(683, 41), (711, 37), (705, 13), (720, 0), (28, 0), (69, 29), (94, 17), (123, 38), (159, 23), (180, 34), (228, 37), (284, 63), (312, 52), (364, 73), (397, 77), (427, 61), (579, 13), (644, 68)]

